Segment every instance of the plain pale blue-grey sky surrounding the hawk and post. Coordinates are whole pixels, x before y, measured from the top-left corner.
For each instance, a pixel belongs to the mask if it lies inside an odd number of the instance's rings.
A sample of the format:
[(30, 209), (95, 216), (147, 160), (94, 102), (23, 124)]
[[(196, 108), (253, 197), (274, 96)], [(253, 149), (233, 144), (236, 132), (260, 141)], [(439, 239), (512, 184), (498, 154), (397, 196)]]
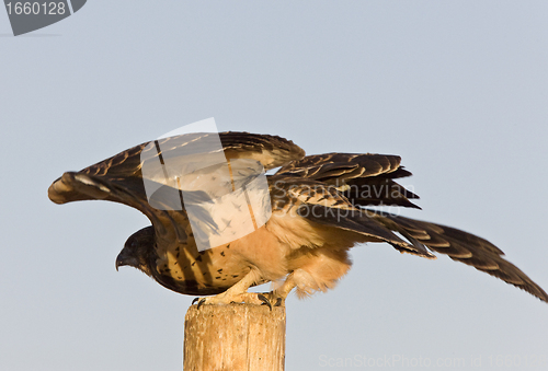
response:
[[(146, 217), (47, 188), (207, 117), (401, 155), (423, 208), (403, 216), (488, 239), (548, 289), (547, 19), (546, 1), (90, 0), (13, 37), (0, 10), (0, 369), (182, 369), (194, 298), (114, 268)], [(445, 256), (352, 256), (335, 290), (288, 298), (286, 370), (548, 369), (546, 303)]]

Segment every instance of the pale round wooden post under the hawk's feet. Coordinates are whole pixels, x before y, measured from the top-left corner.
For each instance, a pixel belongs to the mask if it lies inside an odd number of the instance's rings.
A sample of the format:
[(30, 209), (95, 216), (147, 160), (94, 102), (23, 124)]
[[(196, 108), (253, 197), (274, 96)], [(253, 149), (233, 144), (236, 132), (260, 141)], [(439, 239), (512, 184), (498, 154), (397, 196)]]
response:
[(283, 371), (285, 305), (191, 305), (184, 371)]

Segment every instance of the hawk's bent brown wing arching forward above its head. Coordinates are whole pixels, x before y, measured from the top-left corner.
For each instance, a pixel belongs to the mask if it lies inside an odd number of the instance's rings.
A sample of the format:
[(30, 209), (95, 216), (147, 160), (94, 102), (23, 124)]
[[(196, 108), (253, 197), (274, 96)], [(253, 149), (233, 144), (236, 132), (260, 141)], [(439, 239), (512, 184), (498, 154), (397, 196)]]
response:
[[(170, 166), (185, 166), (190, 161), (199, 161), (203, 155), (219, 151), (224, 151), (228, 160), (252, 159), (261, 162), (265, 169), (282, 166), (305, 155), (301, 148), (276, 136), (248, 132), (189, 134), (146, 142), (80, 172), (67, 172), (52, 184), (48, 196), (56, 204), (91, 199), (125, 204), (145, 213), (160, 235), (169, 237), (170, 233), (175, 233), (180, 241), (185, 240), (184, 227), (189, 220), (184, 209), (165, 205), (169, 201), (164, 202), (163, 208), (150, 206), (142, 165), (151, 160), (160, 160), (163, 164), (163, 160), (169, 159)], [(179, 192), (165, 185), (162, 176), (151, 174), (146, 179), (156, 189), (155, 200), (160, 204), (162, 199), (169, 200), (169, 195)], [(192, 196), (193, 193), (185, 195)]]

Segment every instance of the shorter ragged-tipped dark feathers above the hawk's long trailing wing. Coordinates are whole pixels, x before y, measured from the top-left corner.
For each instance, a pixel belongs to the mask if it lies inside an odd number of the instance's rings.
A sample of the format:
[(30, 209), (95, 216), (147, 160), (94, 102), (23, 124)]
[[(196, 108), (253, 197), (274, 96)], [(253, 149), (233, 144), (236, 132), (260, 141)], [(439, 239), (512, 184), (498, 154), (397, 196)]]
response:
[(411, 175), (400, 162), (400, 156), (390, 154), (313, 154), (292, 162), (276, 174), (307, 177), (335, 186), (353, 205), (420, 209), (409, 200), (419, 196), (393, 181)]

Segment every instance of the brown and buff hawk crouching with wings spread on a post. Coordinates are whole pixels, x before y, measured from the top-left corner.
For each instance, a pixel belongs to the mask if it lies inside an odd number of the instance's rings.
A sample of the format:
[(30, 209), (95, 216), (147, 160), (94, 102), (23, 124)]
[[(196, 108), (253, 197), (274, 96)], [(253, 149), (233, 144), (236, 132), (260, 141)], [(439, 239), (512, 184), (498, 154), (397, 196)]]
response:
[[(227, 161), (252, 160), (265, 170), (279, 169), (266, 175), (272, 208), (267, 221), (235, 241), (199, 251), (184, 208), (149, 202), (145, 183), (160, 181), (145, 178), (142, 159), (156, 148), (150, 158), (170, 158), (172, 166), (185, 166), (191, 160), (178, 150), (192, 144), (208, 151), (215, 138), (220, 138)], [(397, 183), (411, 175), (400, 162), (400, 156), (389, 154), (305, 155), (293, 141), (270, 135), (192, 134), (146, 142), (79, 172), (67, 172), (52, 184), (48, 196), (56, 204), (102, 199), (141, 211), (151, 225), (129, 236), (116, 258), (116, 270), (132, 266), (175, 292), (213, 295), (198, 305), (278, 305), (293, 289), (299, 298), (327, 291), (349, 271), (350, 248), (368, 242), (385, 242), (401, 253), (430, 259), (435, 258), (433, 253), (448, 255), (548, 302), (548, 294), (489, 241), (379, 210), (386, 205), (419, 208), (411, 201), (419, 197)], [(198, 192), (213, 192), (219, 182), (229, 184), (230, 178), (217, 175), (215, 170), (204, 170), (197, 177), (202, 179)], [(248, 292), (269, 281), (282, 283), (270, 293)]]

